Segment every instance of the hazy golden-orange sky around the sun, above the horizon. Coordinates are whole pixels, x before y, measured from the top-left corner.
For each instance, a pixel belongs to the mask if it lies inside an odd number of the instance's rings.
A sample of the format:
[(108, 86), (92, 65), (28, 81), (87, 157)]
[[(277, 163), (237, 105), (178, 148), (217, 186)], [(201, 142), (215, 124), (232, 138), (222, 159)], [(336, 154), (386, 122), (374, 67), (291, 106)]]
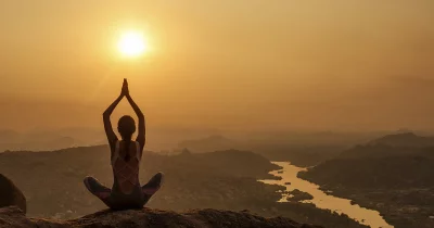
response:
[[(433, 0), (3, 0), (0, 128), (434, 129)], [(115, 50), (144, 30), (152, 52)], [(116, 115), (130, 113), (123, 103)]]

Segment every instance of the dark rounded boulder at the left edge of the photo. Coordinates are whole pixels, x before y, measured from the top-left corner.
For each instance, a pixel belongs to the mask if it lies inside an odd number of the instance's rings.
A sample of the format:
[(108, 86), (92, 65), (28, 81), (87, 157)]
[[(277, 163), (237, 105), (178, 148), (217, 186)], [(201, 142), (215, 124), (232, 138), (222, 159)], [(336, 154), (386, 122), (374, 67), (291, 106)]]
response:
[(17, 206), (26, 213), (26, 198), (8, 177), (0, 174), (0, 207), (4, 206)]

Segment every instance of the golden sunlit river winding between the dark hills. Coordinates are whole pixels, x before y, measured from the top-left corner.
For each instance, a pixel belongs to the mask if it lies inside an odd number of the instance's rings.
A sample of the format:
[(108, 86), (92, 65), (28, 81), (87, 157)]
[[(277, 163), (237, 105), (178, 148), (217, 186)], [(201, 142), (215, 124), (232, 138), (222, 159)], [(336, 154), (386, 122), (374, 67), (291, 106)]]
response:
[[(373, 210), (368, 210), (360, 207), (355, 204), (352, 205), (349, 200), (336, 198), (329, 195), (319, 189), (319, 186), (311, 183), (307, 180), (297, 177), (298, 172), (306, 170), (306, 168), (301, 168), (291, 165), (288, 162), (273, 162), (273, 164), (283, 167), (280, 170), (273, 170), (270, 174), (277, 177), (282, 177), (281, 180), (259, 180), (268, 185), (279, 185), (286, 188), (286, 191), (292, 191), (298, 189), (301, 191), (307, 192), (314, 197), (312, 200), (303, 201), (304, 203), (312, 203), (318, 208), (330, 210), (336, 213), (346, 214), (354, 220), (370, 226), (372, 228), (392, 228), (379, 212)], [(281, 173), (283, 172), (283, 173)], [(281, 173), (281, 174), (279, 174)], [(285, 185), (285, 182), (291, 182), (291, 185)], [(279, 202), (286, 202), (286, 198), (291, 197), (289, 194), (282, 193), (282, 199)]]

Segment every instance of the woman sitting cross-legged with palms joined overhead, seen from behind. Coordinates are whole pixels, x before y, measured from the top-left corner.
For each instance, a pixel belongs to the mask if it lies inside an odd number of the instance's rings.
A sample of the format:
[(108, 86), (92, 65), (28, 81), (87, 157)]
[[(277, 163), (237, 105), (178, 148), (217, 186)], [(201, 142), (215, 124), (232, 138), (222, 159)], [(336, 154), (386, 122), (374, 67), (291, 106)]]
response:
[[(131, 140), (136, 131), (135, 119), (125, 115), (117, 124), (117, 130), (122, 137), (119, 141), (113, 131), (110, 116), (119, 101), (126, 97), (139, 118), (139, 132), (136, 141)], [(86, 177), (86, 188), (112, 210), (142, 208), (149, 199), (161, 188), (163, 174), (158, 173), (151, 180), (140, 186), (139, 167), (144, 148), (144, 115), (139, 106), (132, 101), (128, 91), (128, 83), (124, 79), (120, 96), (105, 110), (103, 114), (104, 129), (111, 149), (111, 161), (113, 168), (113, 188), (101, 185), (93, 177)]]

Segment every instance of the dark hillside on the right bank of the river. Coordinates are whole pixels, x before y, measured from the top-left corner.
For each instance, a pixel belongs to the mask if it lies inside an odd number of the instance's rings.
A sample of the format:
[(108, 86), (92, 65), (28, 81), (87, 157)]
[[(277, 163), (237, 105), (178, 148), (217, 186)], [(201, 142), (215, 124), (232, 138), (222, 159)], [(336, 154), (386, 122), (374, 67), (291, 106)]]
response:
[(333, 195), (375, 208), (395, 227), (434, 227), (434, 147), (430, 141), (412, 134), (385, 136), (298, 176)]

